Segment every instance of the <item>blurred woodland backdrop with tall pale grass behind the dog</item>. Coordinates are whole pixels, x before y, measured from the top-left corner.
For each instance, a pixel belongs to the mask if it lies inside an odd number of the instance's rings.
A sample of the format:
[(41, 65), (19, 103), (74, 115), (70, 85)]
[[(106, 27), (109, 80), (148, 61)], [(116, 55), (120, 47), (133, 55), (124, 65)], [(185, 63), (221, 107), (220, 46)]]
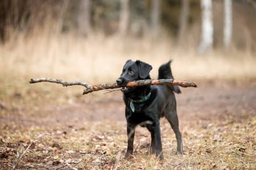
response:
[(127, 59), (156, 76), (171, 58), (177, 79), (254, 79), (255, 53), (254, 0), (0, 2), (3, 75), (110, 82)]

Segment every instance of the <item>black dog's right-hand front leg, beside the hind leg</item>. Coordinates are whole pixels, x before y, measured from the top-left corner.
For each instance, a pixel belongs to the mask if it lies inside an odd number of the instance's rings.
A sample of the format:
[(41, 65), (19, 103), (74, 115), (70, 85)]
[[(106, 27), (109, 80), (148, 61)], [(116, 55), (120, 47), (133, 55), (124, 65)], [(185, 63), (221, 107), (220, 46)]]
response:
[(156, 122), (156, 124), (155, 124), (154, 132), (155, 132), (154, 134), (155, 134), (156, 157), (159, 157), (159, 159), (163, 159), (163, 150), (162, 150), (162, 141), (161, 141), (159, 121)]

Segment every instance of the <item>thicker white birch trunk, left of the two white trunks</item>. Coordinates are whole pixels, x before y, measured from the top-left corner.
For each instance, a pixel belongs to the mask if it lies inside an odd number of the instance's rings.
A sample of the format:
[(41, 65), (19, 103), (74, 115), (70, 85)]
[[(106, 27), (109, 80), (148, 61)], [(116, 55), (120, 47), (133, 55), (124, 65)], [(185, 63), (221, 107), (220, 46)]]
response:
[(212, 0), (201, 0), (201, 43), (199, 51), (212, 49), (213, 45), (213, 17)]

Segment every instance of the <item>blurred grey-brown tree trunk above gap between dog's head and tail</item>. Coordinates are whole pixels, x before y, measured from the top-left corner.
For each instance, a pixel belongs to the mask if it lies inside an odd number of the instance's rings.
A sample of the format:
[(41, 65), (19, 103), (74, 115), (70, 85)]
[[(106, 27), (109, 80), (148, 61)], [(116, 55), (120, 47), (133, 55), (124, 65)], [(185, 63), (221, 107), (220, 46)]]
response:
[(151, 0), (151, 31), (152, 36), (156, 37), (159, 34), (161, 0)]

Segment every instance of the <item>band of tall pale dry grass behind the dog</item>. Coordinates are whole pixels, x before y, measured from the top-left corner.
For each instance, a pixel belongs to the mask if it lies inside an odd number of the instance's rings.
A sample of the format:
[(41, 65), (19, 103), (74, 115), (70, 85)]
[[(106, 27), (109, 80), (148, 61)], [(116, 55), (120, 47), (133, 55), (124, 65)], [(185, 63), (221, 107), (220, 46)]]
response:
[(16, 34), (0, 45), (1, 76), (19, 78), (52, 77), (87, 82), (114, 82), (127, 59), (140, 59), (158, 67), (174, 59), (176, 79), (240, 80), (256, 78), (256, 56), (252, 52), (214, 50), (199, 54), (195, 44), (177, 48), (166, 35), (158, 40), (144, 37), (106, 37), (95, 33), (81, 39), (73, 33)]

